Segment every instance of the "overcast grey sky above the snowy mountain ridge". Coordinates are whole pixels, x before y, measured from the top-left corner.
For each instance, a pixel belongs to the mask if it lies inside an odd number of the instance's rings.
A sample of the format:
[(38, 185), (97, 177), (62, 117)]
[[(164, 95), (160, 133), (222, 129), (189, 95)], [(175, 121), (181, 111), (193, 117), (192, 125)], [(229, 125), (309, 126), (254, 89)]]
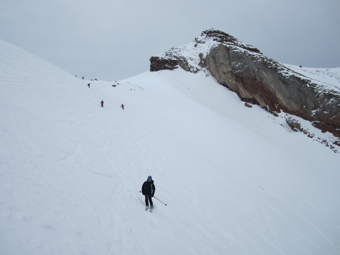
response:
[(88, 80), (145, 72), (210, 27), (278, 62), (333, 68), (339, 13), (339, 0), (0, 0), (0, 38)]

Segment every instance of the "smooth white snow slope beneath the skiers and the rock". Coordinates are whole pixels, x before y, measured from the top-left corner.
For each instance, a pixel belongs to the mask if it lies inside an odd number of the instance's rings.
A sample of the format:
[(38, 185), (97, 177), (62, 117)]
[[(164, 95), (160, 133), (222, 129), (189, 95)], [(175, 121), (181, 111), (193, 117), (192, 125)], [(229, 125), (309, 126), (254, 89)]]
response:
[(0, 254), (340, 253), (339, 154), (202, 72), (83, 81), (0, 41), (0, 139)]

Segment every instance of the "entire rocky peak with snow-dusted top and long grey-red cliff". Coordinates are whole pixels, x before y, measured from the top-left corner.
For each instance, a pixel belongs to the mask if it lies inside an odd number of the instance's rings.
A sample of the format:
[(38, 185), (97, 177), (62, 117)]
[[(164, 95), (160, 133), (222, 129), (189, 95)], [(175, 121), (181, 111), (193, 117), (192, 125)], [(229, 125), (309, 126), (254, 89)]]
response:
[(224, 32), (208, 29), (189, 45), (150, 58), (150, 71), (208, 70), (242, 101), (285, 112), (340, 137), (340, 90), (320, 84), (264, 56)]

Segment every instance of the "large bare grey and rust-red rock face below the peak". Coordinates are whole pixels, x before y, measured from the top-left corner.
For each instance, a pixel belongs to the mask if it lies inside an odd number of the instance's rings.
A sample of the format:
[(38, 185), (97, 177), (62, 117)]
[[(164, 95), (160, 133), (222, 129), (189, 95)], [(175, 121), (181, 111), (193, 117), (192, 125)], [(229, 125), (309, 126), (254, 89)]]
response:
[(263, 55), (220, 44), (201, 62), (220, 84), (245, 102), (340, 128), (338, 92), (323, 90)]

